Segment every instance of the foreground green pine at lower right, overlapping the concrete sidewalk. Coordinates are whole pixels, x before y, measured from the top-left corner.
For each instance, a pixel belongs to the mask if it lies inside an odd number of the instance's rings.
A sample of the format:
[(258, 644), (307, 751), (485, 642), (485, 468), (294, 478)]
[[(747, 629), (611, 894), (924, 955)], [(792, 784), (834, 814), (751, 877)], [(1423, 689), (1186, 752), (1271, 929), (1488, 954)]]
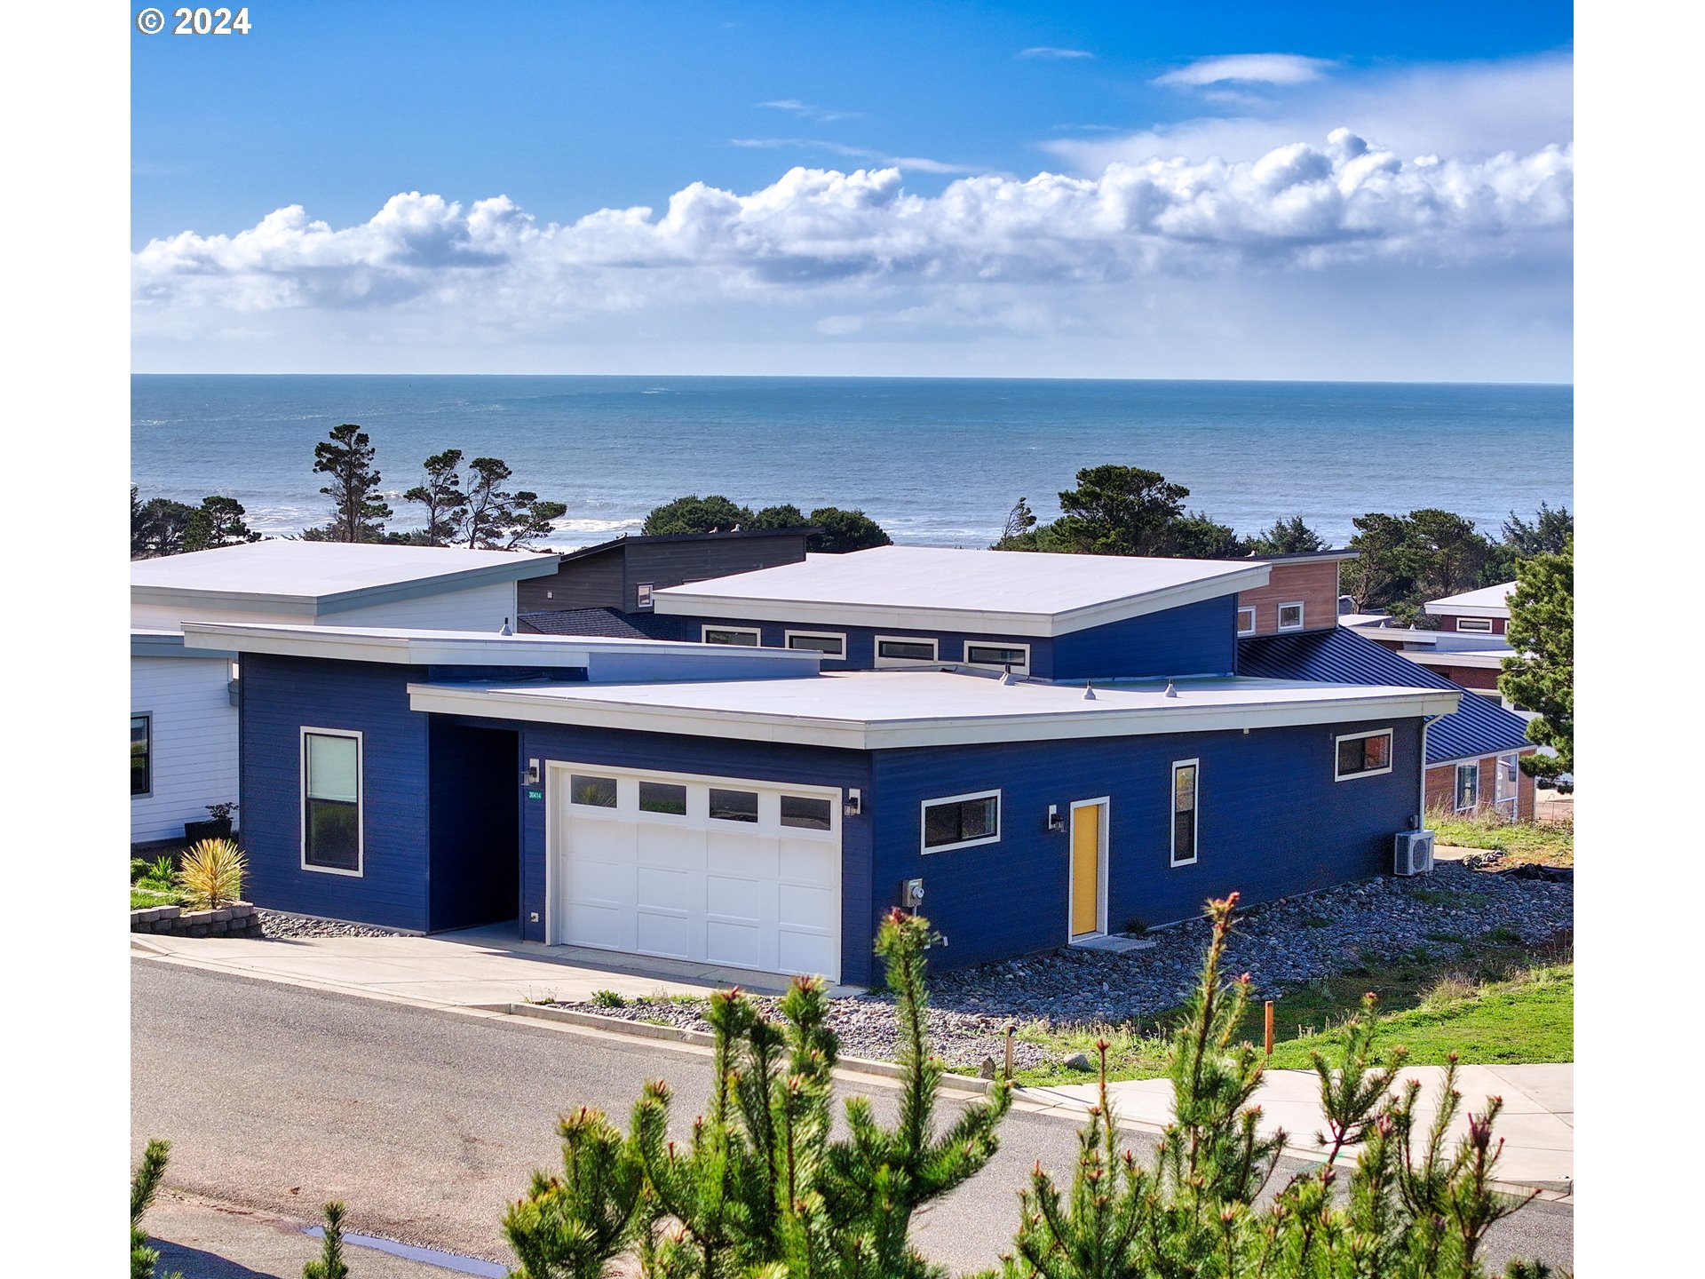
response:
[[(1502, 1103), (1492, 1098), (1485, 1114), (1470, 1115), (1468, 1136), (1449, 1149), (1446, 1134), (1461, 1107), (1453, 1057), (1439, 1114), (1417, 1137), (1420, 1086), (1391, 1097), (1403, 1052), (1376, 1054), (1373, 996), (1342, 1028), (1332, 1061), (1311, 1054), (1326, 1119), (1318, 1134), (1325, 1160), (1260, 1204), (1286, 1136), (1260, 1136), (1250, 1098), (1263, 1062), (1251, 1045), (1233, 1042), (1248, 974), (1219, 975), (1236, 894), (1207, 909), (1212, 938), (1171, 1040), (1175, 1120), (1151, 1166), (1118, 1149), (1103, 1040), (1100, 1098), (1079, 1132), (1071, 1192), (1062, 1194), (1040, 1166), (1032, 1172), (1003, 1279), (1483, 1276), (1485, 1233), (1528, 1202), (1492, 1189), (1499, 1149), (1492, 1126)], [(1338, 1195), (1338, 1156), (1355, 1146), (1354, 1172)], [(1548, 1270), (1512, 1262), (1506, 1274), (1545, 1279)]]

